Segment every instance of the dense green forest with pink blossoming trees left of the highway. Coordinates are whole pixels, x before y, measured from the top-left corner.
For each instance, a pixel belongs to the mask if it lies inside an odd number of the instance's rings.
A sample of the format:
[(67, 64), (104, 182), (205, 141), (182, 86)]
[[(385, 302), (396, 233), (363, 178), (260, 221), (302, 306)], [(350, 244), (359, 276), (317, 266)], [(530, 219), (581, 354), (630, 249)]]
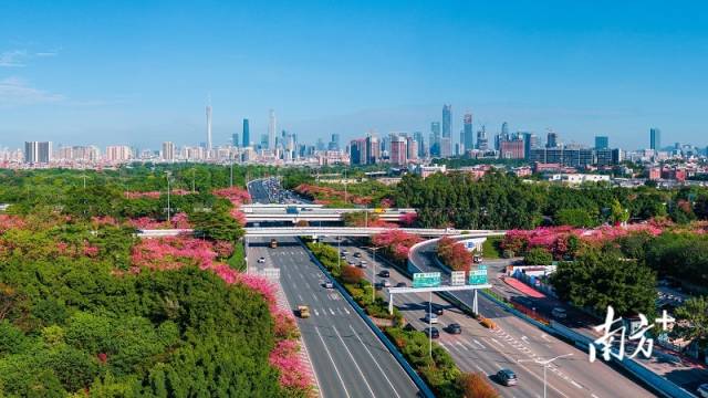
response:
[[(0, 171), (0, 396), (306, 395), (274, 365), (294, 324), (227, 265), (242, 255), (237, 187), (271, 171)], [(199, 238), (142, 241), (140, 223)]]

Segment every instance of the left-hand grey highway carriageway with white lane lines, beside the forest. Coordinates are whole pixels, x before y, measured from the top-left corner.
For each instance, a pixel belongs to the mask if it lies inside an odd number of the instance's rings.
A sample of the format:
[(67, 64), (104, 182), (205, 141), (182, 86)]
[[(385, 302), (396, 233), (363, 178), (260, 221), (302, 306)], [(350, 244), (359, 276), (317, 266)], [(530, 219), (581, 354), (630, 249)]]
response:
[[(249, 266), (280, 269), (290, 305), (310, 306), (311, 317), (298, 326), (323, 397), (415, 397), (419, 391), (383, 343), (336, 290), (294, 238), (280, 239), (277, 249), (253, 239)], [(257, 263), (263, 256), (264, 264)]]

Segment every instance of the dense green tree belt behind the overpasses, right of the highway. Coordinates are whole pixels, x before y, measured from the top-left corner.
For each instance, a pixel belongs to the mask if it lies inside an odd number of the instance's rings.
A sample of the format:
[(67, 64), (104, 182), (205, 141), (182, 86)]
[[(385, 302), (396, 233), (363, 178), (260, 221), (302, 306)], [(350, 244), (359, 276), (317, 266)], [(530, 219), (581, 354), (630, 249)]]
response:
[(423, 179), (407, 175), (393, 193), (396, 206), (418, 209), (424, 227), (531, 229), (556, 224), (597, 227), (621, 221), (668, 217), (675, 222), (708, 219), (708, 190), (614, 188), (589, 184), (577, 188), (523, 182), (492, 172), (479, 180), (464, 172)]

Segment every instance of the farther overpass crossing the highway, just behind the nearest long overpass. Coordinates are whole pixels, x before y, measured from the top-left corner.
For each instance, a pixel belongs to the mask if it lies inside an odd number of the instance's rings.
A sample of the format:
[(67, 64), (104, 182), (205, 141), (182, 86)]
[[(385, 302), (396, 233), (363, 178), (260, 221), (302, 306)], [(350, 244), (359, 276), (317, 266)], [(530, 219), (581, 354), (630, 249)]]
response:
[(367, 212), (383, 221), (398, 222), (406, 214), (415, 214), (415, 209), (330, 209), (322, 205), (243, 205), (241, 211), (247, 222), (280, 221), (343, 221), (347, 213)]

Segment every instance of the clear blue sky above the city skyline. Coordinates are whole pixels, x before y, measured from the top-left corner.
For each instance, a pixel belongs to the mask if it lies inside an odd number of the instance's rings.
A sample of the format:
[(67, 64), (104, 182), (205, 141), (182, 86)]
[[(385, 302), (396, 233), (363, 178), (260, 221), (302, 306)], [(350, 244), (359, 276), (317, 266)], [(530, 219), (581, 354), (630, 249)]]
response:
[[(701, 1), (15, 1), (0, 7), (0, 147), (215, 144), (251, 119), (314, 142), (429, 132), (708, 145)], [(326, 139), (325, 139), (326, 140)]]

